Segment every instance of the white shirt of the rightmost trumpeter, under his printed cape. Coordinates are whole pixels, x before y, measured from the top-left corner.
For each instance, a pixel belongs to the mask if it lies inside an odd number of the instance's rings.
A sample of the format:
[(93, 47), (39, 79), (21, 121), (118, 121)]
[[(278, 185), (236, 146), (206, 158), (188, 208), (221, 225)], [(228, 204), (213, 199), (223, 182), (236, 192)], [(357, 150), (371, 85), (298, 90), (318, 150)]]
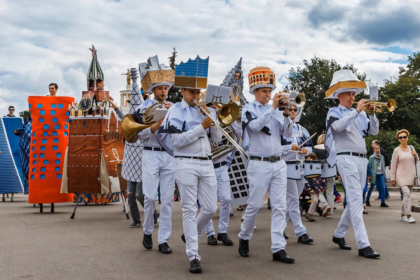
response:
[[(360, 134), (354, 120), (356, 118), (364, 118), (363, 115), (359, 115), (359, 112), (350, 108), (339, 105), (340, 110), (343, 110), (344, 118), (336, 120), (331, 124), (332, 133), (335, 141), (335, 148), (337, 153), (341, 152), (356, 152), (366, 154), (365, 139)], [(369, 115), (370, 128), (367, 131), (371, 135), (377, 135), (379, 132), (379, 121), (375, 114)], [(346, 130), (346, 127), (351, 125), (350, 132)]]

